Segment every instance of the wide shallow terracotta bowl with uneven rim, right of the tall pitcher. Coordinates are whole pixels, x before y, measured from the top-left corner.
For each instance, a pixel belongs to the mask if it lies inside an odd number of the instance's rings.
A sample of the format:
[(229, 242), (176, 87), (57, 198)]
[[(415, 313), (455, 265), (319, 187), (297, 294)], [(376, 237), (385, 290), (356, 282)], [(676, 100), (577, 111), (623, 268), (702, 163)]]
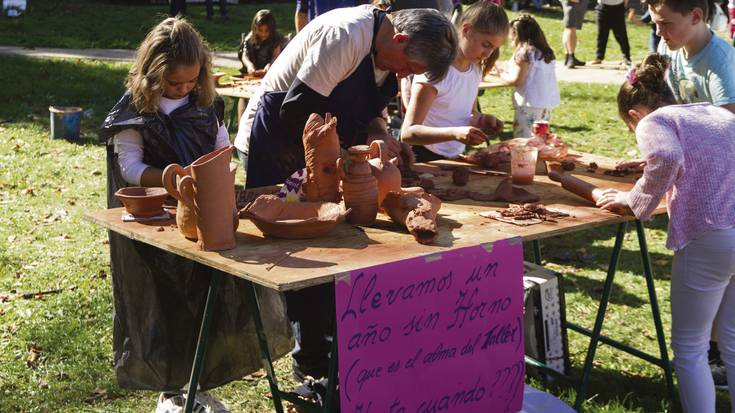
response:
[(324, 236), (348, 213), (333, 202), (285, 202), (276, 195), (261, 195), (240, 211), (264, 235), (286, 239)]

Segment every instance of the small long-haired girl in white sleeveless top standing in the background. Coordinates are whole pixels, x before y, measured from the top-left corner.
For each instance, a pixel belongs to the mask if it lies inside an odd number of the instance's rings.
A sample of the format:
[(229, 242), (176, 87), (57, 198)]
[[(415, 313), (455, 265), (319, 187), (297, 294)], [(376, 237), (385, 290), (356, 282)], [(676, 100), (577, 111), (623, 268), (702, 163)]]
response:
[(551, 110), (559, 106), (559, 85), (556, 82), (556, 56), (536, 19), (521, 14), (510, 21), (513, 58), (510, 70), (501, 73), (506, 86), (515, 87), (513, 93), (513, 137), (533, 136), (536, 121), (551, 120)]

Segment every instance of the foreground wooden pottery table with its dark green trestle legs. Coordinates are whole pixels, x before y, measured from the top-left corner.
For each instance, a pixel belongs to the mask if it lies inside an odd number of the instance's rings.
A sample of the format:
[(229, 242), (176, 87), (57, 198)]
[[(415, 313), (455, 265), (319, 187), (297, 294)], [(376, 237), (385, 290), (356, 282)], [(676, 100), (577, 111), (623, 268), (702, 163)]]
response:
[[(605, 167), (612, 167), (613, 161), (592, 155), (575, 155), (581, 165), (596, 162), (600, 169), (596, 173), (588, 173), (583, 166), (578, 166), (575, 175), (601, 187), (613, 187), (621, 190), (631, 188), (633, 179), (611, 177), (602, 174)], [(421, 165), (423, 171), (431, 172), (436, 177), (438, 187), (451, 185), (451, 173), (442, 170), (437, 165)], [(497, 174), (495, 174), (497, 175)], [(473, 173), (466, 188), (471, 190), (492, 191), (504, 176), (493, 176), (487, 173)], [(87, 218), (103, 227), (120, 233), (163, 250), (178, 254), (210, 267), (222, 270), (225, 273), (241, 277), (250, 281), (250, 294), (254, 299), (256, 330), (263, 353), (264, 368), (268, 375), (271, 392), (276, 411), (282, 412), (281, 399), (294, 401), (294, 396), (279, 390), (276, 383), (271, 357), (268, 352), (266, 337), (262, 329), (262, 320), (255, 295), (254, 284), (272, 288), (278, 291), (297, 290), (305, 287), (334, 282), (340, 274), (361, 268), (397, 262), (405, 259), (425, 256), (456, 248), (476, 246), (501, 239), (522, 237), (524, 241), (532, 241), (535, 258), (540, 262), (540, 248), (538, 240), (572, 232), (599, 227), (603, 225), (617, 225), (615, 246), (613, 248), (607, 277), (604, 284), (600, 306), (597, 312), (594, 328), (590, 331), (569, 323), (569, 327), (591, 336), (587, 356), (584, 363), (581, 381), (576, 385), (577, 403), (579, 409), (584, 400), (592, 362), (597, 345), (600, 342), (623, 349), (634, 356), (643, 358), (664, 369), (669, 390), (673, 390), (671, 367), (664, 340), (663, 327), (658, 312), (654, 281), (642, 224), (632, 217), (621, 217), (594, 207), (591, 203), (562, 189), (558, 183), (552, 182), (546, 176), (536, 176), (534, 185), (527, 187), (530, 191), (541, 196), (541, 202), (548, 208), (567, 212), (569, 218), (559, 219), (557, 222), (544, 222), (527, 227), (507, 224), (479, 215), (479, 212), (499, 209), (503, 205), (498, 203), (480, 203), (463, 199), (454, 202), (445, 202), (439, 211), (439, 236), (432, 245), (421, 245), (405, 230), (392, 224), (386, 216), (379, 215), (378, 221), (371, 227), (354, 227), (346, 223), (339, 224), (326, 237), (310, 240), (280, 240), (264, 238), (260, 231), (248, 220), (241, 220), (237, 230), (237, 247), (229, 251), (204, 252), (200, 251), (195, 243), (184, 239), (177, 229), (170, 223), (143, 224), (137, 222), (122, 222), (122, 210), (109, 209), (87, 214)], [(665, 212), (660, 206), (657, 214)], [(624, 344), (601, 336), (601, 329), (617, 261), (622, 247), (623, 236), (627, 224), (635, 221), (640, 243), (643, 268), (650, 304), (653, 312), (654, 324), (658, 336), (660, 357), (654, 357), (639, 350), (632, 349)], [(202, 327), (199, 333), (197, 356), (192, 368), (190, 389), (196, 389), (201, 359), (206, 348), (206, 337), (209, 328), (211, 309), (219, 285), (219, 278), (212, 277), (209, 296), (205, 307)], [(333, 349), (336, 350), (334, 340)], [(533, 360), (527, 360), (533, 364)], [(332, 357), (330, 377), (336, 377), (336, 357)], [(330, 383), (335, 383), (331, 380)], [(335, 389), (330, 385), (327, 393), (327, 402), (323, 411), (330, 411)], [(193, 400), (193, 398), (190, 398)], [(298, 400), (298, 399), (297, 399)], [(298, 403), (298, 401), (297, 401)], [(303, 403), (303, 402), (301, 402)], [(313, 410), (321, 411), (321, 410)]]

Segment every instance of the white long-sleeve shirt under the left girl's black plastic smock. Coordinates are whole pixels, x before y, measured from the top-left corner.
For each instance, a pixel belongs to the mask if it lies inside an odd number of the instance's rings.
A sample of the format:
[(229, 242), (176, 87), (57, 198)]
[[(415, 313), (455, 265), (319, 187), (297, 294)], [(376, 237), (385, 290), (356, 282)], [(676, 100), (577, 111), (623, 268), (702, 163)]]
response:
[[(161, 112), (168, 115), (185, 105), (188, 101), (189, 96), (181, 99), (161, 97), (159, 108)], [(143, 171), (150, 166), (143, 162), (143, 136), (135, 129), (125, 129), (117, 133), (112, 139), (115, 145), (115, 153), (117, 154), (117, 164), (120, 167), (123, 179), (131, 185), (140, 185), (140, 177), (143, 176)], [(227, 127), (223, 124), (217, 130), (217, 140), (214, 143), (214, 149), (219, 149), (229, 144), (230, 135), (227, 133)]]

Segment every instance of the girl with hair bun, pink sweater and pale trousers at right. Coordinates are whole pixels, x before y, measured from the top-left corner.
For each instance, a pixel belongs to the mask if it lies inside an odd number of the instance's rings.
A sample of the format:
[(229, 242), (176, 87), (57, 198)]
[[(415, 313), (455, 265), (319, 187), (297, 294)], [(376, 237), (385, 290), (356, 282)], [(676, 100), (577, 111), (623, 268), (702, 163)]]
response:
[[(646, 160), (630, 192), (606, 189), (603, 209), (647, 220), (662, 199), (669, 214), (671, 347), (685, 412), (714, 412), (712, 322), (735, 397), (735, 115), (709, 103), (675, 105), (668, 58), (649, 55), (618, 93), (620, 117)], [(719, 312), (719, 314), (718, 314)]]

